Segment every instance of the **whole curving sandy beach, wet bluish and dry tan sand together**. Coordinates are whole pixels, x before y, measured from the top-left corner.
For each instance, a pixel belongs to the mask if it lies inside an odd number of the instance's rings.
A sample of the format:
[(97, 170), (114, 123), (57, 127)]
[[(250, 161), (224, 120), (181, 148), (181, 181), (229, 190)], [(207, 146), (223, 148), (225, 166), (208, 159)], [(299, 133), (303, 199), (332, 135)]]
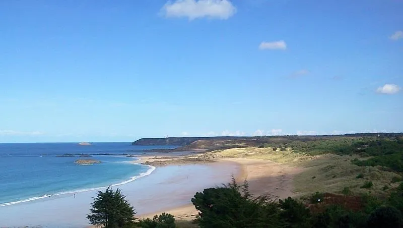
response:
[[(298, 167), (270, 160), (215, 157), (210, 153), (138, 157), (140, 160), (132, 162), (157, 164), (155, 170), (148, 176), (113, 188), (121, 189), (139, 218), (168, 212), (177, 220), (193, 219), (197, 214), (190, 201), (194, 194), (229, 183), (232, 176), (238, 183), (247, 180), (254, 195), (270, 194), (274, 199), (293, 196), (293, 177), (301, 172)], [(96, 193), (91, 190), (75, 196), (62, 194), (0, 207), (1, 225), (89, 227), (86, 214)]]

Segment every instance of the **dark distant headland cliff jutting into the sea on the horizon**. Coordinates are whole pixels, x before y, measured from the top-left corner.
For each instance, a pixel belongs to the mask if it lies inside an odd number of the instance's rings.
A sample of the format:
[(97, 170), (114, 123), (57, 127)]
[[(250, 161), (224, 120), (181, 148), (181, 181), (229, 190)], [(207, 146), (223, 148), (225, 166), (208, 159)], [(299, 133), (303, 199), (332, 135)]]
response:
[(170, 138), (143, 138), (132, 142), (133, 146), (185, 146), (197, 140), (234, 140), (251, 137), (170, 137)]

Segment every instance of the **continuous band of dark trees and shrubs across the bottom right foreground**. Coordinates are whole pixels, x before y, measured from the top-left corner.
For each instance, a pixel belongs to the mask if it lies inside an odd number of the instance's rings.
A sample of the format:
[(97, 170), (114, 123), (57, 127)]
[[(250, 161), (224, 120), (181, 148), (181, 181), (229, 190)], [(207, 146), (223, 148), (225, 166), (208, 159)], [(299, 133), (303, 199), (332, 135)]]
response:
[(252, 197), (247, 185), (233, 183), (196, 193), (192, 202), (198, 209), (199, 227), (401, 227), (403, 185), (394, 195), (380, 200), (371, 195), (341, 196), (315, 193), (305, 204), (288, 197), (270, 200)]

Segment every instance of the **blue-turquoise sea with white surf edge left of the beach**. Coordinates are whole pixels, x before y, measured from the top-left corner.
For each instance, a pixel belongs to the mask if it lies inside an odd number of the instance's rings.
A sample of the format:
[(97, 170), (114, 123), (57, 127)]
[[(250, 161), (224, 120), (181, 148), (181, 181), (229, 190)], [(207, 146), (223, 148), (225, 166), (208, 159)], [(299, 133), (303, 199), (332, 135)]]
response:
[[(144, 149), (175, 146), (131, 146), (130, 143), (0, 143), (0, 206), (32, 201), (58, 194), (119, 185), (148, 175), (153, 167), (133, 164), (133, 157), (92, 155), (57, 157), (62, 154), (143, 154)], [(101, 163), (77, 165), (77, 159)]]

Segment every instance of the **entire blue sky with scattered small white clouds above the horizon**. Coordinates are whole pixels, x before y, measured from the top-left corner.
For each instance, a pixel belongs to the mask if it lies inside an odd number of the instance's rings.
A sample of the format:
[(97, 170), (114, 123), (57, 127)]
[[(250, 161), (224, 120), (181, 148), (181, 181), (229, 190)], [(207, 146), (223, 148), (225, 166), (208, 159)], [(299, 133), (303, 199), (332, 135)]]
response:
[(0, 142), (403, 132), (401, 0), (0, 1)]

